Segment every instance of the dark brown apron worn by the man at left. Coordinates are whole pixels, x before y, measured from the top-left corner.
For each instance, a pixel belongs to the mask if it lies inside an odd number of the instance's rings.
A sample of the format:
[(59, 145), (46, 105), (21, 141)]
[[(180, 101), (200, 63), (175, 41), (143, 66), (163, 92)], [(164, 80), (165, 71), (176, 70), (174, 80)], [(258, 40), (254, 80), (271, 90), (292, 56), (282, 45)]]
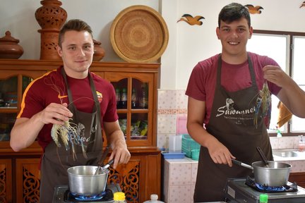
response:
[[(68, 86), (66, 79), (66, 73), (64, 68), (61, 69), (61, 73), (66, 82), (68, 101), (73, 101), (71, 90)], [(76, 124), (83, 124), (85, 126), (85, 132), (80, 133), (83, 135), (83, 144), (85, 145), (86, 155), (88, 159), (83, 156), (81, 145), (74, 144), (76, 149), (76, 160), (73, 159), (71, 142), (69, 141), (69, 148), (63, 146), (57, 147), (55, 142), (50, 142), (45, 148), (45, 152), (42, 156), (41, 166), (41, 185), (40, 185), (40, 202), (52, 202), (54, 195), (54, 187), (56, 185), (68, 185), (68, 173), (67, 169), (71, 166), (80, 165), (97, 165), (102, 156), (102, 128), (100, 125), (100, 103), (97, 99), (95, 85), (93, 80), (88, 74), (90, 80), (90, 87), (92, 90), (95, 105), (92, 113), (86, 113), (78, 111), (73, 102), (68, 105), (68, 109), (73, 113), (73, 120), (71, 122)], [(60, 140), (60, 138), (59, 138)], [(104, 154), (103, 154), (104, 155)]]

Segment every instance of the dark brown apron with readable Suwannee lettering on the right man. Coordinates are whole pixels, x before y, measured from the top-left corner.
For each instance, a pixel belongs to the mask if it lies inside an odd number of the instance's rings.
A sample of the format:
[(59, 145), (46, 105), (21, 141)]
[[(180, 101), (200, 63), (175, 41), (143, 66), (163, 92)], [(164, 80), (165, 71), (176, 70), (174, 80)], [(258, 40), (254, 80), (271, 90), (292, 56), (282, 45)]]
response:
[[(237, 160), (246, 164), (261, 161), (256, 147), (261, 147), (267, 159), (273, 160), (267, 129), (258, 112), (258, 127), (253, 125), (253, 106), (258, 97), (258, 87), (253, 65), (248, 56), (252, 86), (236, 92), (228, 92), (221, 85), (221, 55), (218, 59), (217, 82), (210, 122), (206, 130), (215, 136)], [(246, 178), (252, 171), (233, 164), (215, 164), (208, 149), (201, 146), (194, 202), (224, 201), (227, 178)]]

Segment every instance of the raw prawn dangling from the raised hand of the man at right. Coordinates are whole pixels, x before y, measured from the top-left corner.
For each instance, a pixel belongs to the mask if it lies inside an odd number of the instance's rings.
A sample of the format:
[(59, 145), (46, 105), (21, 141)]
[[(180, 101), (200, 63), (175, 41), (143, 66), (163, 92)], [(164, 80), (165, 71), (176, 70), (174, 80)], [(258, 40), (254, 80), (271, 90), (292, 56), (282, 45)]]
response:
[(258, 111), (261, 109), (262, 117), (270, 116), (271, 95), (267, 81), (264, 82), (262, 90), (258, 92), (258, 98), (256, 99), (256, 106), (254, 106), (254, 118), (253, 123), (257, 128)]

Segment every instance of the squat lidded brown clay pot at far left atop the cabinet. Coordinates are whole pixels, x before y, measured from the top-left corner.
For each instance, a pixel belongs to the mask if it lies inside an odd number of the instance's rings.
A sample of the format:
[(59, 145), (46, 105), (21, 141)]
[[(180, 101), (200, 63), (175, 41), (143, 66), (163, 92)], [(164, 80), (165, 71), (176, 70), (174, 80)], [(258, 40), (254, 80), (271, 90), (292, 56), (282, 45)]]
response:
[(23, 48), (18, 44), (19, 39), (11, 37), (11, 32), (6, 31), (0, 38), (0, 59), (19, 59), (23, 54)]

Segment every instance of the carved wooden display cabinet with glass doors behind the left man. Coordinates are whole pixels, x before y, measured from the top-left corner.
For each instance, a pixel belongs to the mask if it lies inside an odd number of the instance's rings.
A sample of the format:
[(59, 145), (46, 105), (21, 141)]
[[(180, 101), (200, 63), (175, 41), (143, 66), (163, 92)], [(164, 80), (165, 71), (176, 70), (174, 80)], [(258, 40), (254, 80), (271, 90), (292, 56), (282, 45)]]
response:
[[(0, 202), (39, 199), (42, 149), (34, 142), (27, 149), (13, 152), (9, 132), (20, 111), (25, 87), (59, 66), (61, 61), (0, 59)], [(110, 168), (108, 182), (119, 183), (128, 202), (144, 202), (152, 193), (160, 196), (161, 155), (156, 130), (160, 63), (93, 62), (90, 70), (112, 82), (116, 89), (126, 90), (126, 104), (118, 106), (117, 111), (131, 160), (116, 170)]]

